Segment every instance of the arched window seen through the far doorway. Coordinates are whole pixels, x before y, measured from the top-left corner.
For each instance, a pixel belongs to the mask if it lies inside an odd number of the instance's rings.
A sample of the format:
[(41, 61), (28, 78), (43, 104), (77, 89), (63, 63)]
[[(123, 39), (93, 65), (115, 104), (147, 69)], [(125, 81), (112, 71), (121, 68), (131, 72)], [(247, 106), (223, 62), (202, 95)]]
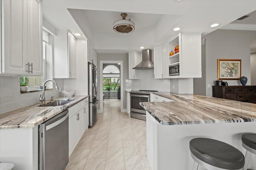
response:
[(117, 91), (120, 84), (120, 69), (116, 64), (103, 64), (103, 67), (103, 91)]

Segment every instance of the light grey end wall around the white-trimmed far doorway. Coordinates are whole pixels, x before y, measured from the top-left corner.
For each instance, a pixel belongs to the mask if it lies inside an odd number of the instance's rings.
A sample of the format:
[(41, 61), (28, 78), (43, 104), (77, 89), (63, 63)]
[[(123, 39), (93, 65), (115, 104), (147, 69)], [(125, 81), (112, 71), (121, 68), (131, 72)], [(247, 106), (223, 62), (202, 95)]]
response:
[[(128, 54), (108, 54), (108, 53), (98, 53), (98, 65), (97, 65), (97, 70), (98, 70), (98, 75), (100, 75), (100, 72), (102, 72), (102, 68), (100, 68), (100, 61), (123, 61), (123, 78), (121, 81), (123, 81), (123, 84), (125, 85), (125, 79), (129, 78), (129, 73), (128, 73)], [(100, 80), (99, 80), (100, 82)], [(124, 94), (123, 98), (123, 106), (124, 109), (126, 109), (126, 92), (125, 92), (125, 87), (121, 87), (121, 90)], [(100, 90), (99, 90), (100, 91)], [(99, 94), (98, 98), (102, 98), (102, 94)], [(98, 109), (100, 109), (101, 103), (99, 100), (98, 103)]]

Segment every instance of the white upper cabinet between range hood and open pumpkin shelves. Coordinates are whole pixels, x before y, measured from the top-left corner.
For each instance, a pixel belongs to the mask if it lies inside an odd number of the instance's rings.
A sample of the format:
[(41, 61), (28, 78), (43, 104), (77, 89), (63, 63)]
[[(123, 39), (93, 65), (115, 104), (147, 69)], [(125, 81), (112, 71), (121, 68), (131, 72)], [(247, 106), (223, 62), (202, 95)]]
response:
[(167, 78), (167, 43), (154, 47), (154, 78)]

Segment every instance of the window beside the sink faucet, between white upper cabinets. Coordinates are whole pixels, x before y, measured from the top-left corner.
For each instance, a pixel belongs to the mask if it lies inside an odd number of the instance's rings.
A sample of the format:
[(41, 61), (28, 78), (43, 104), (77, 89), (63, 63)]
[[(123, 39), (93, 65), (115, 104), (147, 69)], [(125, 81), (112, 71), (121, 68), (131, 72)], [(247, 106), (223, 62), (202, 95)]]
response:
[[(43, 76), (22, 76), (20, 84), (27, 84), (28, 90), (38, 90), (47, 79), (52, 79), (52, 38), (53, 36), (43, 31)], [(47, 83), (46, 88), (52, 88), (52, 83)]]

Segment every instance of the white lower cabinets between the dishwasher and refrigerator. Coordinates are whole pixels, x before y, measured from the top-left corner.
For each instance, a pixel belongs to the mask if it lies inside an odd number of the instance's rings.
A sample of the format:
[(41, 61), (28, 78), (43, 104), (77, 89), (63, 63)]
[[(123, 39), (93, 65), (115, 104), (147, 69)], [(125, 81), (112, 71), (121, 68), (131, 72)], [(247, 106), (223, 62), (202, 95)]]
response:
[(68, 155), (70, 156), (89, 125), (88, 98), (68, 109)]

